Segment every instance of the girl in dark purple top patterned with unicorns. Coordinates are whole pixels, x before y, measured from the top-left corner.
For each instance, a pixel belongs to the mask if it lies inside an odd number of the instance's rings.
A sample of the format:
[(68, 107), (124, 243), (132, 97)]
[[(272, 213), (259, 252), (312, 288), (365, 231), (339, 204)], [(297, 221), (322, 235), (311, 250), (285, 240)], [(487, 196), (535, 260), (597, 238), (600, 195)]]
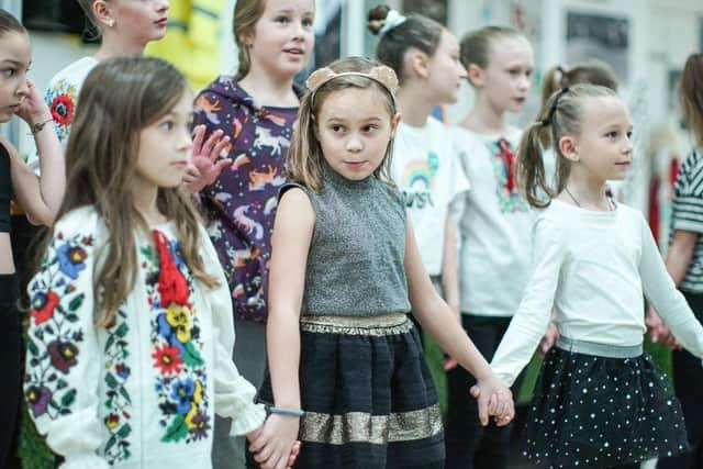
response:
[[(271, 228), (299, 107), (293, 78), (312, 55), (313, 19), (313, 0), (237, 0), (239, 70), (219, 77), (196, 101), (196, 124), (230, 138), (223, 155), (232, 164), (210, 180), (196, 178), (189, 189), (201, 190), (208, 233), (234, 302), (234, 358), (255, 386), (266, 367)], [(244, 439), (228, 438), (226, 422), (215, 428), (215, 468), (243, 468)]]

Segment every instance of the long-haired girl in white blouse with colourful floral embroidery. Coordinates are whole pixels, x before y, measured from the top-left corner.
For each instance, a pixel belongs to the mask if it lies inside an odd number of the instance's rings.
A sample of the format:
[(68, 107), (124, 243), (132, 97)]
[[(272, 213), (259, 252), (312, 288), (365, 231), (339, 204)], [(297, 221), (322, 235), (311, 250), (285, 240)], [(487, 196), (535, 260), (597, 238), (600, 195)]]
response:
[(66, 469), (210, 467), (213, 415), (247, 434), (265, 411), (231, 360), (226, 281), (179, 189), (192, 93), (164, 60), (118, 57), (80, 102), (29, 287), (30, 414)]

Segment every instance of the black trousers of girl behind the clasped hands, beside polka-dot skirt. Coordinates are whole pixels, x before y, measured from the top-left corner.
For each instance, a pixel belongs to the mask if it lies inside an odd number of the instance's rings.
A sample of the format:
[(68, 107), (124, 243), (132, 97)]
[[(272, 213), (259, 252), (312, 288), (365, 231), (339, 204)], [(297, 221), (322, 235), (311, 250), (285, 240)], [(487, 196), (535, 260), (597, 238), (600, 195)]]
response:
[[(461, 314), (464, 330), (488, 361), (493, 358), (510, 321), (511, 317)], [(522, 376), (513, 384), (513, 395), (517, 395), (521, 383)], [(512, 425), (499, 427), (491, 422), (488, 427), (481, 426), (476, 399), (469, 394), (473, 384), (476, 379), (461, 367), (447, 372), (446, 469), (505, 469)]]

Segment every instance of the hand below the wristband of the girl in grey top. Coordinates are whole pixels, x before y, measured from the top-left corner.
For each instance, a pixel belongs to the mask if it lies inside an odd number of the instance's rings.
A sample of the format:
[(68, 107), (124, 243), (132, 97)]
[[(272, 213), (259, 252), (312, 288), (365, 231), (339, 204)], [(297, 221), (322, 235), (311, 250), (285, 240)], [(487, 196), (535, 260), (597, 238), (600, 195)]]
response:
[(295, 440), (299, 426), (300, 418), (290, 415), (272, 414), (266, 420), (249, 445), (261, 469), (284, 469), (293, 464), (300, 451)]

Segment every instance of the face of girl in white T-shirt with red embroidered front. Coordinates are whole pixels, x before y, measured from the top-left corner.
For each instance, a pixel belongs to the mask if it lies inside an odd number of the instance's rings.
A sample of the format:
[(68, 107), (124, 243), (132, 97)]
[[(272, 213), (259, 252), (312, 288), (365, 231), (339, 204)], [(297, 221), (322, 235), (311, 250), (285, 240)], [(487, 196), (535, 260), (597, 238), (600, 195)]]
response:
[(525, 104), (535, 67), (532, 46), (522, 37), (503, 36), (492, 41), (486, 68), (477, 67), (473, 86), (486, 93), (499, 112), (520, 112)]

